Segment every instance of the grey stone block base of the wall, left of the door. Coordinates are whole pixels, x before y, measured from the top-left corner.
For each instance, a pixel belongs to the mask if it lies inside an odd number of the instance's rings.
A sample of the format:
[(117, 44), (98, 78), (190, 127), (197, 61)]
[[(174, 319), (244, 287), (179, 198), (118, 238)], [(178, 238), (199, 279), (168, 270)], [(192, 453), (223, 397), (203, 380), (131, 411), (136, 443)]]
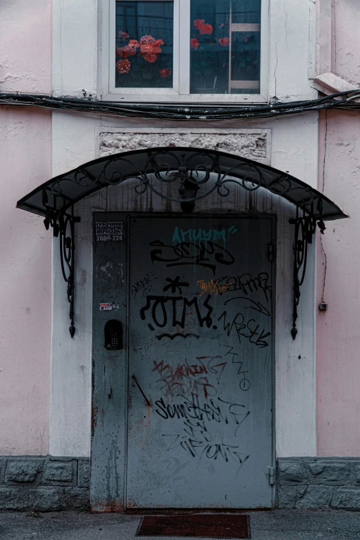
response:
[(90, 463), (72, 457), (0, 457), (0, 510), (89, 506)]

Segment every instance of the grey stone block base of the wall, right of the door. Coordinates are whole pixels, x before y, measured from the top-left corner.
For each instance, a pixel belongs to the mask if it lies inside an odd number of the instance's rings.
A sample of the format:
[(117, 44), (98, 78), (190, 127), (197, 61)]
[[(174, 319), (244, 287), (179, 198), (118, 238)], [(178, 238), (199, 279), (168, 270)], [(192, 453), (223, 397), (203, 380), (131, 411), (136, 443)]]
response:
[(277, 507), (360, 510), (360, 458), (279, 458)]

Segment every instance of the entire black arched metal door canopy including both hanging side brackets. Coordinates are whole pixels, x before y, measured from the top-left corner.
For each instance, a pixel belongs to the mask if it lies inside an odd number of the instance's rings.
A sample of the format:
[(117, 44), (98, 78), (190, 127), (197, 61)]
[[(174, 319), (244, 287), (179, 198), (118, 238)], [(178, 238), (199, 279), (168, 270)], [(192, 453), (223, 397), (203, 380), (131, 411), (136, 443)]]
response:
[[(280, 170), (250, 159), (199, 148), (166, 147), (121, 152), (89, 161), (43, 183), (17, 203), (17, 208), (39, 214), (48, 229), (60, 239), (61, 267), (68, 283), (70, 334), (74, 336), (74, 203), (106, 188), (135, 180), (134, 190), (144, 194), (151, 190), (163, 199), (181, 203), (191, 212), (194, 203), (217, 192), (228, 197), (230, 186), (251, 192), (264, 188), (297, 207), (294, 243), (294, 311), (292, 337), (297, 335), (297, 306), (300, 286), (306, 272), (308, 244), (324, 221), (348, 217), (337, 204), (305, 182)], [(164, 184), (171, 194), (163, 194)], [(168, 193), (168, 192), (167, 192)]]

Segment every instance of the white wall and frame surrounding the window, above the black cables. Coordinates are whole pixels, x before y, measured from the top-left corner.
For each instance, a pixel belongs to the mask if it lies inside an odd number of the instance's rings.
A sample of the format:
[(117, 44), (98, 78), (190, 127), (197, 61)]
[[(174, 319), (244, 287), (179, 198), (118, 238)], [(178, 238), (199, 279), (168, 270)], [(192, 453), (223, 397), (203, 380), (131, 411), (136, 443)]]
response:
[[(181, 18), (187, 18), (183, 10), (184, 1), (188, 0), (179, 0)], [(119, 94), (110, 97), (103, 82), (108, 77), (108, 64), (101, 59), (101, 37), (104, 37), (104, 32), (110, 36), (107, 30), (109, 2), (52, 0), (54, 95), (79, 97), (85, 90), (86, 95), (91, 94), (98, 99), (126, 102), (126, 97)], [(192, 94), (193, 103), (263, 103), (274, 96), (286, 102), (317, 97), (317, 91), (308, 78), (309, 54), (312, 57), (314, 47), (312, 8), (309, 9), (306, 2), (290, 0), (271, 0), (271, 3), (270, 0), (263, 0), (262, 6), (261, 94)], [(180, 46), (183, 47), (181, 43)], [(186, 59), (184, 61), (188, 62)], [(165, 98), (168, 102), (183, 103), (186, 101), (183, 96), (190, 97), (186, 92), (188, 83), (179, 76), (179, 93), (168, 94)], [(159, 101), (159, 92), (155, 89), (150, 94), (142, 94), (141, 99), (137, 99), (135, 94), (128, 98), (132, 102), (150, 103)]]

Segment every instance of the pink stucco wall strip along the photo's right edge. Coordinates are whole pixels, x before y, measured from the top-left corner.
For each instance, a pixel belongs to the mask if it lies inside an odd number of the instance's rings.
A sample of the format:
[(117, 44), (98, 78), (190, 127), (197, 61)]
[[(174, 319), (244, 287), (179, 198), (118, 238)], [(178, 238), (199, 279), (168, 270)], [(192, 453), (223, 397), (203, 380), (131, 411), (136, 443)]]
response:
[[(321, 1), (330, 8), (330, 2)], [(331, 56), (332, 72), (359, 84), (359, 1), (337, 0), (331, 6), (332, 32), (328, 42), (326, 33), (322, 34), (323, 54)], [(318, 61), (326, 65), (323, 59)], [(360, 114), (320, 114), (319, 148), (319, 189), (324, 184), (326, 195), (351, 219), (329, 222), (322, 237), (328, 261), (324, 299), (329, 307), (317, 313), (318, 455), (359, 456)], [(319, 302), (325, 271), (320, 242), (317, 260)]]

